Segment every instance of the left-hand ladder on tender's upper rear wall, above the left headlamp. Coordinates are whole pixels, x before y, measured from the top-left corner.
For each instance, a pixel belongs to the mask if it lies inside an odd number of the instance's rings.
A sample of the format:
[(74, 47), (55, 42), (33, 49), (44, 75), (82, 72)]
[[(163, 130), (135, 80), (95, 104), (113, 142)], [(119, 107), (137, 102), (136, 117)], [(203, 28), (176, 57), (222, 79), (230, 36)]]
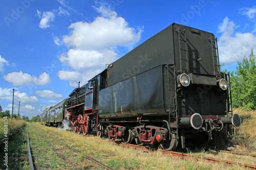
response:
[[(178, 29), (176, 30), (176, 32), (178, 33), (178, 37), (179, 37), (179, 59), (180, 59), (180, 69), (177, 72), (187, 72), (188, 71), (188, 57), (187, 57), (187, 39), (186, 39), (186, 33), (185, 33), (185, 29), (184, 30), (180, 30), (180, 28), (178, 27)], [(183, 38), (182, 38), (183, 37)], [(182, 45), (184, 48), (181, 47), (181, 43), (184, 44)], [(182, 55), (182, 53), (185, 55)]]

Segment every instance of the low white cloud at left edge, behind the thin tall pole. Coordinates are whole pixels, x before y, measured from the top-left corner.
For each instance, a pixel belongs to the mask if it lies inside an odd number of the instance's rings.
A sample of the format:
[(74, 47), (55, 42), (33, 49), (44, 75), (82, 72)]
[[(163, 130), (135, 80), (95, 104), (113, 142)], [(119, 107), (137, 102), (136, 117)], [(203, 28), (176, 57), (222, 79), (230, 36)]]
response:
[[(0, 87), (0, 99), (12, 101), (13, 90)], [(24, 104), (38, 103), (36, 96), (29, 96), (26, 92), (14, 90), (14, 100)]]

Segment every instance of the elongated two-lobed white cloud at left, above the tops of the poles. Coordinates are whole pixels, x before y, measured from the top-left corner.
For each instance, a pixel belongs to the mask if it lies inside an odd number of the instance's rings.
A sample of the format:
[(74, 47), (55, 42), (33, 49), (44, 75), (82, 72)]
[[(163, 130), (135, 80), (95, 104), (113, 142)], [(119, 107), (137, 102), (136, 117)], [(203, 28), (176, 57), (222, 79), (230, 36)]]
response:
[(35, 84), (37, 86), (45, 86), (51, 83), (50, 75), (46, 72), (43, 72), (41, 75), (36, 78), (35, 76), (31, 76), (27, 73), (19, 72), (10, 72), (7, 75), (4, 75), (4, 79), (12, 83), (13, 86), (25, 86), (28, 84)]

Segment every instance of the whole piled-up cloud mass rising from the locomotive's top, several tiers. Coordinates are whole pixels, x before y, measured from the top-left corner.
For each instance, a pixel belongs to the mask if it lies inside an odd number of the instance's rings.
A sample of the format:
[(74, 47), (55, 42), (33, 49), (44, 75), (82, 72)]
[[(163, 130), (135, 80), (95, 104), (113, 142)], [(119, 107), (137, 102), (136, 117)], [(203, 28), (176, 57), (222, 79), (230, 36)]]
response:
[(69, 81), (70, 86), (77, 86), (77, 81), (87, 83), (105, 68), (105, 64), (118, 59), (118, 46), (134, 45), (141, 36), (142, 29), (130, 27), (124, 18), (109, 7), (101, 5), (94, 9), (101, 16), (92, 22), (72, 23), (69, 27), (71, 34), (62, 39), (71, 48), (58, 59), (73, 71), (60, 70), (57, 75), (60, 80)]

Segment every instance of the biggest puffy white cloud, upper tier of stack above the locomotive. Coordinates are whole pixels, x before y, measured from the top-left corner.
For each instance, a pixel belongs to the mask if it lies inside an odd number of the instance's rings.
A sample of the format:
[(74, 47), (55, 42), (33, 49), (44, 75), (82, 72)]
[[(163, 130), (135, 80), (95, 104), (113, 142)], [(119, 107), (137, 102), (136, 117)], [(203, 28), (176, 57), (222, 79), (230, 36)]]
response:
[[(116, 14), (116, 13), (115, 13)], [(141, 30), (128, 26), (122, 17), (96, 17), (91, 22), (75, 22), (70, 25), (72, 34), (65, 36), (63, 42), (82, 50), (99, 50), (111, 46), (126, 45), (140, 39)]]

